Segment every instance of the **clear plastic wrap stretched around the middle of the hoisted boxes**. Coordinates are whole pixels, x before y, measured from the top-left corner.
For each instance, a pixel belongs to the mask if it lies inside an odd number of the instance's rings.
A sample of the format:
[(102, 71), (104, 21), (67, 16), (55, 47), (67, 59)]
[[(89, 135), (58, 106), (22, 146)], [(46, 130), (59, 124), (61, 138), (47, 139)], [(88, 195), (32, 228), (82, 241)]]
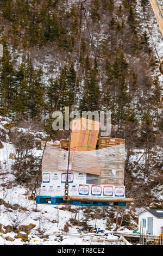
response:
[[(86, 184), (123, 185), (124, 144), (92, 151), (70, 151), (68, 172), (86, 175)], [(67, 172), (68, 151), (46, 147), (42, 173)]]

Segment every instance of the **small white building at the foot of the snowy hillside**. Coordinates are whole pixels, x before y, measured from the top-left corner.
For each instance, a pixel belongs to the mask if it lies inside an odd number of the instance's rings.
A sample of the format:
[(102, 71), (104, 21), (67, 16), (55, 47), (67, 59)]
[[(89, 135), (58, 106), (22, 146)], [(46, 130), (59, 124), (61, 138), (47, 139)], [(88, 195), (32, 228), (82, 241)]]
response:
[(163, 232), (163, 210), (144, 210), (139, 214), (139, 232), (160, 235)]

